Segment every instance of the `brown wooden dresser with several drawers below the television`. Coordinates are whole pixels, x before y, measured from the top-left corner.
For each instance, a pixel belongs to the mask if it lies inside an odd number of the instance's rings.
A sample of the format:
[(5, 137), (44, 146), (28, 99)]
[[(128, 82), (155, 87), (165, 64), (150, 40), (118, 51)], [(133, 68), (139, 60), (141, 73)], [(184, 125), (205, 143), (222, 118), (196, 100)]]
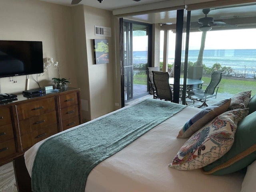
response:
[(80, 89), (0, 105), (0, 166), (37, 142), (82, 123)]

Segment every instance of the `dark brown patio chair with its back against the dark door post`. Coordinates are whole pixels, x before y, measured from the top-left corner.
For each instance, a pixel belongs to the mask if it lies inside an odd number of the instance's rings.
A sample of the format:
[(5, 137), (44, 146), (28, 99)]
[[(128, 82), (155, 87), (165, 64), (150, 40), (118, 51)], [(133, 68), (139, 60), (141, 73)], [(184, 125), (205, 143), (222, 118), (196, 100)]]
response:
[(159, 71), (152, 71), (152, 73), (154, 86), (156, 88), (156, 95), (154, 98), (172, 102), (172, 89), (169, 84), (169, 73)]

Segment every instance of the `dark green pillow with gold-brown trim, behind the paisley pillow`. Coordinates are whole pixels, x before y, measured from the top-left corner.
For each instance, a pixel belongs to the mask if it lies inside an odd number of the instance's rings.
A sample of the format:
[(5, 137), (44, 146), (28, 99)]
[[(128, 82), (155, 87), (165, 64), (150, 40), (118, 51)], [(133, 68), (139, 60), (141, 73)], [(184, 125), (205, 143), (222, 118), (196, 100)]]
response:
[(224, 175), (245, 168), (256, 160), (256, 112), (238, 124), (234, 144), (220, 159), (205, 166), (205, 174)]

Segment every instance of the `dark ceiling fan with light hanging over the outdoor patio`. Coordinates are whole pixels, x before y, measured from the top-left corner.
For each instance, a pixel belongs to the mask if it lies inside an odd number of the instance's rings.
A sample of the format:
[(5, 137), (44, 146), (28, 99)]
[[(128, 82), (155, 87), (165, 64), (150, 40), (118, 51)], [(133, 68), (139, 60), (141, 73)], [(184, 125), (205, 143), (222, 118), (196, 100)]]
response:
[(208, 17), (207, 14), (210, 12), (210, 9), (203, 9), (202, 12), (205, 14), (205, 17), (198, 19), (199, 30), (202, 32), (210, 31), (213, 26), (236, 27), (235, 25), (226, 24), (222, 21), (214, 21), (213, 17)]

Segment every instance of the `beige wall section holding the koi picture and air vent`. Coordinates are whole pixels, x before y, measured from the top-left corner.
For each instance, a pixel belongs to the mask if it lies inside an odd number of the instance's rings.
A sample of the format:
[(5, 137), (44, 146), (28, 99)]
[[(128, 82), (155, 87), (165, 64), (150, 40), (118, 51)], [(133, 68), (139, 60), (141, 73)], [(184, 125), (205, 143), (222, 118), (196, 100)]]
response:
[[(89, 72), (90, 109), (91, 118), (97, 118), (114, 110), (114, 38), (95, 36), (94, 26), (112, 28), (112, 12), (84, 6), (84, 20), (86, 30), (86, 52)], [(112, 28), (112, 33), (114, 29)], [(94, 39), (107, 39), (109, 44), (109, 63), (94, 64)], [(78, 79), (80, 81), (80, 79)]]

